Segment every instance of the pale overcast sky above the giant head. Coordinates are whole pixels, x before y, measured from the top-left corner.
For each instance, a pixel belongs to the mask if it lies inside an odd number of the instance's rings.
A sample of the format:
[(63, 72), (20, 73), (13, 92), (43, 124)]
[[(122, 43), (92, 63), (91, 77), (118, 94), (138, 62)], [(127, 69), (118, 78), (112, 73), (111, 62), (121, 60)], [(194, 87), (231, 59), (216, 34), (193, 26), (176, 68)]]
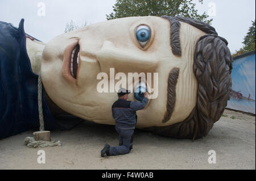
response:
[[(194, 2), (200, 14), (205, 11), (213, 18), (212, 26), (228, 40), (231, 53), (242, 48), (243, 37), (255, 19), (254, 0), (204, 0), (203, 5)], [(64, 33), (71, 20), (79, 26), (106, 21), (114, 4), (115, 0), (0, 0), (0, 21), (18, 27), (24, 18), (25, 32), (47, 43)]]

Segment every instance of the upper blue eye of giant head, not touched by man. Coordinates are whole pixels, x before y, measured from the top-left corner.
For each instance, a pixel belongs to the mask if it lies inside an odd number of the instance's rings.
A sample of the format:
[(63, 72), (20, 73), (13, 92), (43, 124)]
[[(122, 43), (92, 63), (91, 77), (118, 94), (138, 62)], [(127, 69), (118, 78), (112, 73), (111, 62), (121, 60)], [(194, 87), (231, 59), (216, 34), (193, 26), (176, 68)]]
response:
[(150, 28), (145, 25), (141, 25), (137, 28), (136, 38), (142, 48), (144, 48), (148, 43), (148, 41), (150, 40), (150, 34), (151, 34)]

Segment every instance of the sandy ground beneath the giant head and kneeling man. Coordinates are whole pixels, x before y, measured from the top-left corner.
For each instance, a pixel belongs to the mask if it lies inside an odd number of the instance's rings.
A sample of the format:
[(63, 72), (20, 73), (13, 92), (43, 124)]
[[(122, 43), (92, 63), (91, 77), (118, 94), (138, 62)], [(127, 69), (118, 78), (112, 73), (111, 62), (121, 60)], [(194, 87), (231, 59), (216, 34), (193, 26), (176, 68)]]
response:
[[(27, 136), (32, 131), (0, 140), (0, 169), (255, 169), (255, 116), (228, 110), (205, 138), (176, 140), (136, 129), (133, 150), (107, 158), (100, 156), (104, 144), (118, 145), (113, 126), (83, 122), (51, 132), (63, 145), (42, 149), (45, 164), (37, 162), (40, 149), (23, 144)], [(216, 151), (216, 163), (208, 163), (209, 150)]]

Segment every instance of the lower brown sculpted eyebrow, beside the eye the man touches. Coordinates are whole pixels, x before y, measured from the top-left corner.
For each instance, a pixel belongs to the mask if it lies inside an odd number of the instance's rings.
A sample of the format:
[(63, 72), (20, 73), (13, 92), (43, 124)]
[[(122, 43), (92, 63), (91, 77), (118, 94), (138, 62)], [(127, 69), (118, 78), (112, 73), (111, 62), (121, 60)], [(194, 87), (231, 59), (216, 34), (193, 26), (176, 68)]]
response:
[(168, 77), (168, 86), (167, 86), (167, 104), (166, 104), (166, 113), (164, 113), (164, 118), (162, 123), (166, 123), (170, 120), (172, 112), (174, 112), (175, 101), (176, 101), (176, 85), (177, 79), (179, 78), (179, 68), (172, 68), (169, 77)]

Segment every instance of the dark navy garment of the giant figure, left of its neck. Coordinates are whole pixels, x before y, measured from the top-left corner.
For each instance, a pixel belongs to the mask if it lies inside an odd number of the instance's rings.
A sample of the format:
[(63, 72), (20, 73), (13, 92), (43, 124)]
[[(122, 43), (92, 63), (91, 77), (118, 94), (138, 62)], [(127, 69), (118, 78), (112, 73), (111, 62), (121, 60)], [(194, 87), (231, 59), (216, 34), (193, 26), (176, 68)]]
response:
[[(26, 50), (24, 19), (19, 28), (0, 22), (0, 139), (31, 129), (39, 130), (38, 75)], [(61, 129), (47, 106), (43, 89), (46, 130)]]

